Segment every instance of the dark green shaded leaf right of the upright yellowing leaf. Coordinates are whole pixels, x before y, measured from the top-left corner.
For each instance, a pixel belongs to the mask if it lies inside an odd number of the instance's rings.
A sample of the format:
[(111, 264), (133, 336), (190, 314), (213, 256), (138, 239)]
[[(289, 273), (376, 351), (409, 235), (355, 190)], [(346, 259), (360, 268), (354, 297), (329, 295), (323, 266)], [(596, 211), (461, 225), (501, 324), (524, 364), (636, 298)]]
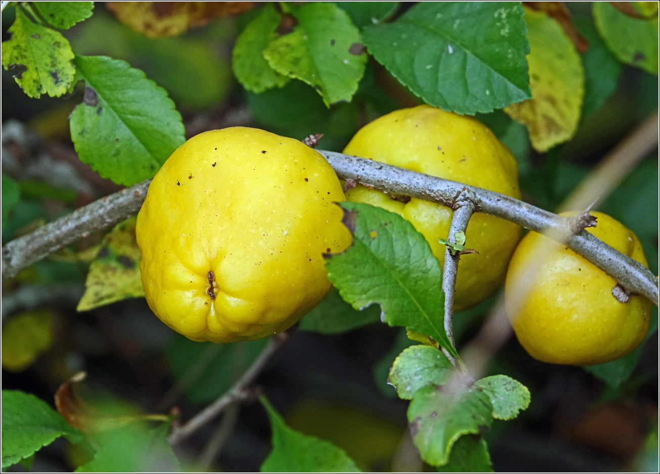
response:
[(591, 18), (574, 17), (573, 23), (589, 42), (589, 49), (582, 54), (584, 67), (582, 117), (584, 118), (599, 110), (605, 100), (614, 94), (622, 67), (601, 40)]

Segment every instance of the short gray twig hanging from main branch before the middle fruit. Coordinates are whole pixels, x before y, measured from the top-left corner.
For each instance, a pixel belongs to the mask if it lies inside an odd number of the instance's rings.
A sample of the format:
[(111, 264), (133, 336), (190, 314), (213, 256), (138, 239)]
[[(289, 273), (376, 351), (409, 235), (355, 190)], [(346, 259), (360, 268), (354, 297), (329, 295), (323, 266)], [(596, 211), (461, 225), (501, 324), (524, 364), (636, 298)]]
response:
[[(467, 229), (467, 224), (472, 217), (472, 213), (475, 210), (475, 203), (469, 197), (467, 192), (463, 192), (456, 199), (456, 203), (453, 206), (453, 216), (451, 217), (451, 224), (449, 225), (449, 236), (447, 240), (456, 243), (454, 234), (456, 232), (465, 232)], [(453, 338), (453, 323), (451, 319), (453, 318), (453, 302), (454, 294), (456, 290), (456, 274), (458, 272), (458, 262), (461, 259), (460, 254), (452, 255), (451, 248), (446, 246), (445, 248), (445, 262), (442, 266), (442, 291), (445, 294), (445, 332), (449, 341), (454, 349), (456, 349), (456, 343)]]

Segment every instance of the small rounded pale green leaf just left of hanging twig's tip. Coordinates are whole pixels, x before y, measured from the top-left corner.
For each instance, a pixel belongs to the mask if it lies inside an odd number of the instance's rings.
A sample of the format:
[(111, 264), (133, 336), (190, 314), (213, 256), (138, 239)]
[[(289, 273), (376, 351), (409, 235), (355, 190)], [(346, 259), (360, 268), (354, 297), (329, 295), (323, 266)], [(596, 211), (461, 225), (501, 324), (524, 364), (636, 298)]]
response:
[(416, 345), (405, 349), (394, 360), (389, 371), (389, 384), (399, 398), (413, 399), (414, 393), (427, 385), (444, 385), (455, 374), (449, 359), (435, 347)]

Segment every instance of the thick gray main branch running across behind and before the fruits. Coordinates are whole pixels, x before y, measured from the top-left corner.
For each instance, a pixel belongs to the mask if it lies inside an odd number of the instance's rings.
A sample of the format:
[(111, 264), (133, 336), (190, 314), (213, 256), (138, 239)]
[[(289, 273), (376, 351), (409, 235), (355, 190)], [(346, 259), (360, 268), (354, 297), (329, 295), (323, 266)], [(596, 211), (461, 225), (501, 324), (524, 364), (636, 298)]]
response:
[[(461, 191), (467, 189), (475, 195), (475, 212), (510, 220), (550, 237), (559, 236), (559, 242), (611, 275), (626, 291), (642, 294), (658, 305), (658, 281), (644, 265), (585, 230), (575, 235), (566, 232), (570, 228), (568, 218), (487, 189), (347, 154), (319, 152), (327, 158), (340, 179), (354, 180), (387, 193), (418, 197), (451, 207)], [(90, 232), (114, 226), (135, 215), (145, 199), (147, 187), (149, 180), (99, 199), (71, 215), (12, 240), (2, 251), (3, 280)]]

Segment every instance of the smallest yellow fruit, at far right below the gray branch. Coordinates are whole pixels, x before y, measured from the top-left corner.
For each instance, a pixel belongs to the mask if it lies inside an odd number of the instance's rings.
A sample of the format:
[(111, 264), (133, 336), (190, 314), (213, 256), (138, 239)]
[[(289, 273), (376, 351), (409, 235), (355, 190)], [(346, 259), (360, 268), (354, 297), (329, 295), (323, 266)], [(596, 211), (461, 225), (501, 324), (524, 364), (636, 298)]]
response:
[[(597, 225), (587, 232), (648, 266), (635, 234), (606, 214), (591, 214)], [(525, 350), (543, 362), (584, 366), (609, 362), (635, 349), (649, 329), (651, 302), (643, 296), (619, 302), (612, 296), (616, 281), (566, 247), (535, 257), (545, 244), (547, 237), (529, 232), (513, 253), (506, 277), (507, 312)], [(529, 279), (525, 267), (530, 259), (541, 261), (541, 267), (524, 302), (516, 304), (513, 292), (521, 280)]]

